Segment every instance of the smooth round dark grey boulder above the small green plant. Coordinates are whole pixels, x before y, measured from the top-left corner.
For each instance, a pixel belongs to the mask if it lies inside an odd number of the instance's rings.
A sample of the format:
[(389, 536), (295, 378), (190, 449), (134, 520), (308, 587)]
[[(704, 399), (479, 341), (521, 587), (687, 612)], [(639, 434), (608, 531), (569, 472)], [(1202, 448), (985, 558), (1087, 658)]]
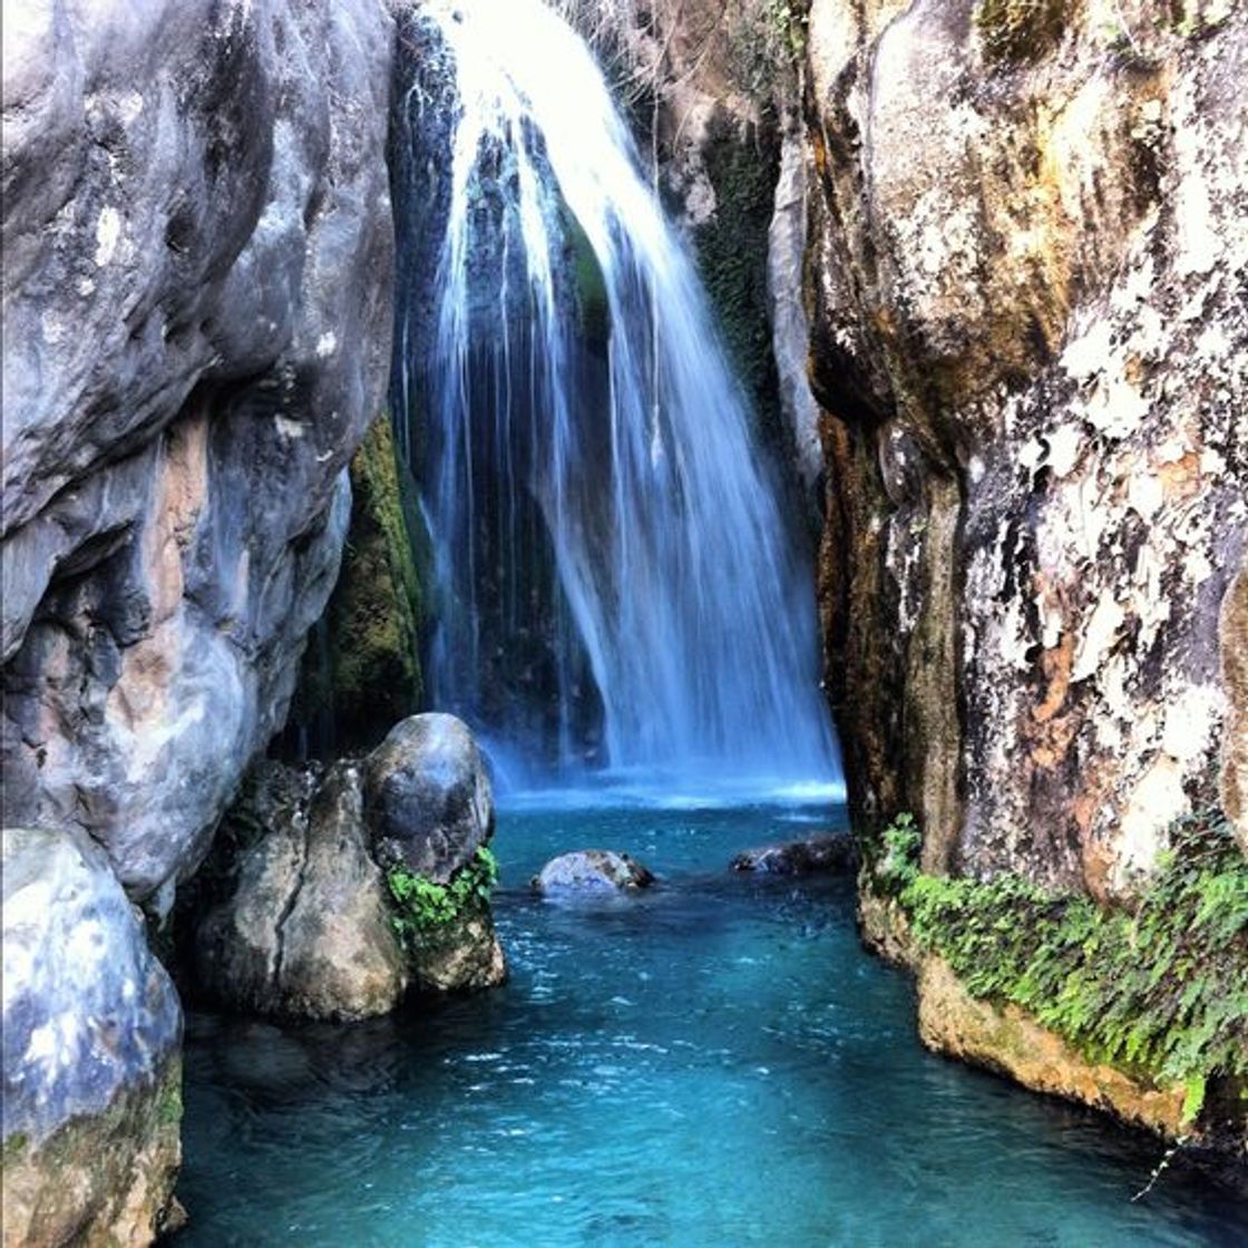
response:
[(447, 884), (494, 831), (485, 759), (454, 715), (412, 715), (364, 760), (373, 856)]

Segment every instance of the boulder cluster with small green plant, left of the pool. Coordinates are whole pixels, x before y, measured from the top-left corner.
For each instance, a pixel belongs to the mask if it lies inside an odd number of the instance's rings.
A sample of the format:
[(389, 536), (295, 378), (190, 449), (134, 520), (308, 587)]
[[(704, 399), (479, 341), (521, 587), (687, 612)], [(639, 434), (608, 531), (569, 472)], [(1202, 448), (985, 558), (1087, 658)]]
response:
[(261, 764), (188, 897), (193, 988), (245, 1013), (344, 1021), (391, 1012), (409, 987), (502, 983), (493, 827), (480, 751), (451, 715), (404, 720), (364, 760)]

